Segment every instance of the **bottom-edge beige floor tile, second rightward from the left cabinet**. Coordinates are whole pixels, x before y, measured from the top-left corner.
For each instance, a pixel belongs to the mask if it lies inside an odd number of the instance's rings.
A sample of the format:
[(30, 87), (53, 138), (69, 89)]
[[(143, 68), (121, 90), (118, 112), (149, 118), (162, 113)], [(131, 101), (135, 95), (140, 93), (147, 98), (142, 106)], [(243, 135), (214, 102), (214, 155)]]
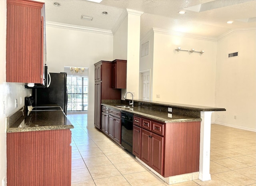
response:
[(124, 176), (112, 176), (94, 180), (96, 186), (130, 186)]

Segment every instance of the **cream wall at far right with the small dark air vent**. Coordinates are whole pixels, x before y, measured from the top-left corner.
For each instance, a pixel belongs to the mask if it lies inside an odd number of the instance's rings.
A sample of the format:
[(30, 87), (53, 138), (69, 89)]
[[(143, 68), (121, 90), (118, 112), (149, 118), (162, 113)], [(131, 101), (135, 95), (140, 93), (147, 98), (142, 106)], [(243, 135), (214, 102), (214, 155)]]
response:
[[(236, 51), (238, 57), (227, 57)], [(256, 131), (256, 30), (224, 36), (217, 56), (215, 106), (226, 111), (215, 114), (216, 123)]]

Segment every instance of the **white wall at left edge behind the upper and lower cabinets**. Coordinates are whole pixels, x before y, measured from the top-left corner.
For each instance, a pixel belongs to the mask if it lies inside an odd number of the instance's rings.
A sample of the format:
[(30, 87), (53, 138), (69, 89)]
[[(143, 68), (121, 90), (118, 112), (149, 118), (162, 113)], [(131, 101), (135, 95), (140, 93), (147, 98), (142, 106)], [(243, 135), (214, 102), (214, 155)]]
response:
[[(6, 83), (6, 0), (0, 0), (0, 181), (6, 177), (6, 117), (24, 106), (31, 89), (24, 83)], [(18, 108), (15, 108), (15, 99)], [(4, 104), (5, 103), (5, 113)]]

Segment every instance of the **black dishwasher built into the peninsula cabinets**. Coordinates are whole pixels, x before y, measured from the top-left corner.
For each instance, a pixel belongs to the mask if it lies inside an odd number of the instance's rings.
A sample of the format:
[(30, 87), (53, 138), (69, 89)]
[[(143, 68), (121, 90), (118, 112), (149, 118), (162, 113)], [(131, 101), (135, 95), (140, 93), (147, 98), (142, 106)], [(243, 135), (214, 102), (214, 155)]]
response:
[(122, 119), (122, 147), (132, 153), (133, 114), (121, 112)]

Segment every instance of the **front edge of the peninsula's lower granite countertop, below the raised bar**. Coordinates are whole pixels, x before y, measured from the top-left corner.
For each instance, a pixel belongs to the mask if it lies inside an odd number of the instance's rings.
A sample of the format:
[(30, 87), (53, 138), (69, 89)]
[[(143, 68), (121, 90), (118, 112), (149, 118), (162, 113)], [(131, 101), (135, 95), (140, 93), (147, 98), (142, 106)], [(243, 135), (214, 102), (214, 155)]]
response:
[(105, 107), (110, 107), (112, 109), (115, 109), (115, 110), (119, 110), (119, 111), (126, 111), (128, 113), (133, 113), (133, 114), (136, 114), (136, 115), (141, 115), (141, 116), (144, 116), (144, 117), (147, 117), (147, 118), (150, 118), (150, 119), (154, 119), (156, 121), (160, 121), (162, 123), (178, 123), (178, 122), (190, 122), (190, 121), (202, 121), (201, 118), (188, 118), (188, 119), (163, 119), (161, 117), (156, 117), (156, 116), (152, 116), (152, 115), (148, 115), (148, 114), (144, 114), (142, 112), (136, 112), (136, 111), (130, 111), (128, 109), (122, 109), (122, 108), (118, 108), (118, 107), (115, 107), (113, 105), (108, 105), (108, 104), (104, 104), (102, 103), (101, 105), (105, 106)]

